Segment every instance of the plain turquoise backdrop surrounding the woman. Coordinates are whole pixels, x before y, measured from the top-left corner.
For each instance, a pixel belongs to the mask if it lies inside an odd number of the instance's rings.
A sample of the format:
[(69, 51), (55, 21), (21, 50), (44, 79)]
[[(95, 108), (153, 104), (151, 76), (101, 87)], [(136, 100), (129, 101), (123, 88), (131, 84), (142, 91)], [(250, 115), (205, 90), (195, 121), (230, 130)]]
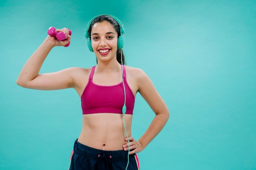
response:
[[(141, 170), (256, 170), (255, 0), (1, 0), (0, 169), (68, 169), (81, 130), (74, 89), (16, 85), (50, 26), (72, 30), (40, 73), (96, 64), (85, 27), (108, 13), (126, 29), (129, 66), (143, 69), (170, 110), (159, 135), (138, 154)], [(139, 139), (154, 113), (137, 95)]]

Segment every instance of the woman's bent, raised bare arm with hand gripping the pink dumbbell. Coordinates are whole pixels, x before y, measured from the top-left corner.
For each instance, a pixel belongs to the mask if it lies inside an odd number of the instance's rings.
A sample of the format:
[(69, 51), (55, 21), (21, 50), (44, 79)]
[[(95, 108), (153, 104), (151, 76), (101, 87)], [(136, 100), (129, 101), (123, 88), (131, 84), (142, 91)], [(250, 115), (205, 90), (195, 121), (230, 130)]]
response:
[(38, 75), (43, 62), (51, 49), (54, 46), (65, 46), (70, 43), (71, 37), (68, 35), (68, 29), (56, 29), (56, 31), (64, 31), (67, 35), (67, 40), (58, 41), (53, 36), (48, 35), (20, 71), (20, 75), (17, 79), (18, 85), (38, 90), (56, 90), (73, 86), (72, 77), (70, 76), (70, 68), (55, 73)]

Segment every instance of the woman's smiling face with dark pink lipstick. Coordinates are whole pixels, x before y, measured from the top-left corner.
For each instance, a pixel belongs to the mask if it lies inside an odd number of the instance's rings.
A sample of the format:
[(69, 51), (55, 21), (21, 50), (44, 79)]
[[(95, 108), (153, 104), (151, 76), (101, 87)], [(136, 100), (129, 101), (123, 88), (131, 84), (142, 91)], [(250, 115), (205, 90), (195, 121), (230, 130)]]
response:
[(99, 61), (116, 60), (118, 35), (108, 21), (97, 22), (92, 26), (92, 49)]

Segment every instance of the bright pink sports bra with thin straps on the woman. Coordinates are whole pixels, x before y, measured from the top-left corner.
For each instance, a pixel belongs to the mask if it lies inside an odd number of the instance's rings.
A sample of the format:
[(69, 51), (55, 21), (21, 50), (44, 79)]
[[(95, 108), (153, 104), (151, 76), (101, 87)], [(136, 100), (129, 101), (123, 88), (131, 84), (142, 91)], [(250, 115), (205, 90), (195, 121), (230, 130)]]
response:
[(123, 65), (123, 83), (112, 86), (101, 86), (92, 82), (95, 66), (92, 67), (88, 84), (81, 96), (83, 115), (92, 113), (119, 113), (124, 106), (124, 86), (126, 89), (126, 114), (132, 115), (135, 96), (126, 81), (126, 71)]

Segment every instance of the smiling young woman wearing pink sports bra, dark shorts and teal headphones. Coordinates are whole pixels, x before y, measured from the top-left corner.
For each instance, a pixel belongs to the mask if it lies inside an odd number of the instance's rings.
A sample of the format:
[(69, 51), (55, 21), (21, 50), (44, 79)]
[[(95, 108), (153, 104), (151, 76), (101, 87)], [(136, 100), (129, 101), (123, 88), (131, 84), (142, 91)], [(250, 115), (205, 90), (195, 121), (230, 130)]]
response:
[[(96, 66), (38, 74), (54, 46), (70, 43), (68, 29), (56, 31), (65, 32), (66, 40), (48, 35), (23, 66), (17, 84), (39, 90), (74, 88), (81, 97), (83, 126), (74, 144), (70, 170), (139, 170), (136, 153), (162, 130), (169, 112), (144, 71), (123, 65), (121, 22), (112, 15), (99, 15), (88, 23), (85, 37), (90, 51), (97, 56)], [(155, 117), (144, 135), (135, 140), (131, 124), (137, 92)]]

